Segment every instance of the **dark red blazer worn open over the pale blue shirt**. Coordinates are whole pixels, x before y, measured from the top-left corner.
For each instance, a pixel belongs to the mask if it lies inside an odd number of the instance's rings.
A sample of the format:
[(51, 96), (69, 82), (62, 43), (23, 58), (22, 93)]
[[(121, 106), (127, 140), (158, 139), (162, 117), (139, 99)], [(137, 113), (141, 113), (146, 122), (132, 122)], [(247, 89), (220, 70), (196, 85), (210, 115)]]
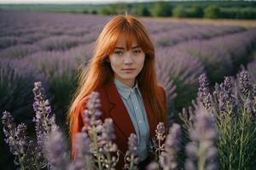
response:
[[(162, 95), (162, 100), (165, 102), (166, 105), (166, 92), (164, 88), (159, 87)], [(101, 111), (102, 111), (102, 121), (105, 118), (112, 118), (113, 119), (113, 126), (114, 126), (114, 133), (116, 136), (116, 139), (113, 140), (115, 144), (118, 145), (118, 149), (124, 154), (120, 154), (119, 156), (119, 163), (116, 166), (116, 169), (122, 169), (124, 167), (125, 161), (124, 156), (125, 152), (128, 149), (128, 138), (131, 133), (135, 133), (135, 128), (133, 127), (133, 124), (131, 122), (131, 118), (129, 116), (128, 111), (125, 108), (125, 104), (123, 103), (123, 100), (121, 99), (119, 92), (117, 91), (117, 88), (115, 87), (113, 81), (109, 82), (107, 86), (97, 90), (97, 92), (100, 94), (100, 100), (101, 100)], [(73, 134), (78, 133), (81, 131), (82, 127), (84, 127), (84, 109), (86, 105), (87, 98), (84, 98), (83, 101), (81, 101), (78, 109), (78, 115), (76, 116), (74, 123), (73, 123)], [(148, 125), (150, 128), (150, 138), (154, 137), (155, 129), (158, 124), (157, 120), (152, 115), (152, 111), (148, 108), (148, 105), (145, 105), (146, 98), (143, 97), (145, 110), (147, 112), (148, 116)], [(166, 110), (166, 108), (165, 108)], [(166, 113), (165, 113), (166, 115)], [(167, 121), (167, 117), (166, 117)], [(165, 125), (166, 125), (165, 121)], [(73, 135), (75, 136), (75, 135)], [(74, 139), (73, 139), (74, 141)], [(74, 144), (74, 142), (73, 142)], [(72, 150), (73, 157), (75, 156), (75, 150)]]

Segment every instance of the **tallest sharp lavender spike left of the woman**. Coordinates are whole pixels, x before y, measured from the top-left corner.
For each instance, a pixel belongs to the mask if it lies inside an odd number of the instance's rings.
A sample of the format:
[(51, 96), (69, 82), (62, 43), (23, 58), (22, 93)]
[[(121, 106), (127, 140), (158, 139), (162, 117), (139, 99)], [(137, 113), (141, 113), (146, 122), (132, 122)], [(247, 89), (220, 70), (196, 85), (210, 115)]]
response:
[(55, 124), (55, 115), (51, 113), (49, 100), (45, 99), (45, 91), (42, 87), (42, 82), (34, 83), (33, 94), (35, 99), (33, 109), (36, 112), (33, 122), (36, 122), (36, 133), (38, 137), (36, 153), (38, 160), (41, 160), (44, 164), (44, 139), (52, 130), (57, 128), (57, 126)]

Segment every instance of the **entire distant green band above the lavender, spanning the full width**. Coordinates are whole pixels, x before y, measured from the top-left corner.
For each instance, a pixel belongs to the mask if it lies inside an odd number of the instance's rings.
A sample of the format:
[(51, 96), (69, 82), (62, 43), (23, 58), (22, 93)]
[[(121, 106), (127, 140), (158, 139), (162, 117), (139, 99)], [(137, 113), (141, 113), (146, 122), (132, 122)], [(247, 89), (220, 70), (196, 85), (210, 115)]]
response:
[(256, 2), (246, 0), (186, 0), (110, 4), (1, 4), (0, 10), (2, 9), (103, 15), (127, 12), (137, 16), (150, 17), (256, 19)]

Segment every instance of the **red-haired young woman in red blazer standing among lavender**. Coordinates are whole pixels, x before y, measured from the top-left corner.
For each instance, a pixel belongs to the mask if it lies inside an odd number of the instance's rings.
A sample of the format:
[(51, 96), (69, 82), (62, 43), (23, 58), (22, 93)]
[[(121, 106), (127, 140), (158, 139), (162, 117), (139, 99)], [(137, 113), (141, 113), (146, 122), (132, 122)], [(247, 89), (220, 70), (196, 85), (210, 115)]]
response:
[[(145, 27), (135, 17), (117, 15), (104, 26), (96, 40), (90, 64), (79, 77), (79, 88), (69, 112), (72, 144), (84, 127), (84, 109), (91, 92), (101, 99), (102, 120), (113, 119), (121, 151), (117, 169), (124, 166), (131, 133), (139, 139), (139, 167), (150, 161), (147, 144), (159, 122), (166, 125), (166, 92), (157, 81), (154, 45)], [(85, 125), (86, 126), (86, 125)], [(73, 157), (75, 150), (73, 147)]]

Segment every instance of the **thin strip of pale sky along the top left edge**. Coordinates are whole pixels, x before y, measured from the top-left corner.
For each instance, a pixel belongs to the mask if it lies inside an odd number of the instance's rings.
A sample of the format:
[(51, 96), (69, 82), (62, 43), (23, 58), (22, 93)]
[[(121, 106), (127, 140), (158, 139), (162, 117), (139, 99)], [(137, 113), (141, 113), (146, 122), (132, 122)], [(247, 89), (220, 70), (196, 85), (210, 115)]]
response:
[(0, 0), (0, 3), (116, 3), (152, 2), (155, 0)]

